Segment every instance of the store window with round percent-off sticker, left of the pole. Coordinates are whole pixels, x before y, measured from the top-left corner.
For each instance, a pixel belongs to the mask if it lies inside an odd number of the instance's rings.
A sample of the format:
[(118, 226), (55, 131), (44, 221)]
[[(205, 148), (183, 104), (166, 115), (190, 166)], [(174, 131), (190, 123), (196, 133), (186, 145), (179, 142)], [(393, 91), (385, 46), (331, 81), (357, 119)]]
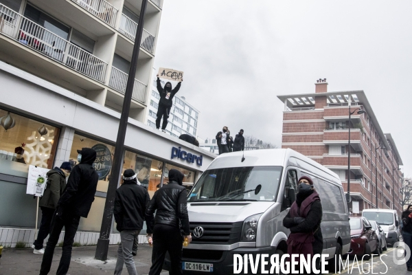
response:
[(97, 157), (93, 163), (93, 167), (99, 175), (99, 182), (97, 190), (100, 192), (107, 192), (108, 180), (111, 175), (111, 166), (113, 164), (113, 154), (115, 153), (115, 146), (108, 145), (98, 140), (93, 140), (89, 137), (74, 134), (73, 145), (71, 146), (69, 162), (72, 166), (78, 164), (78, 150), (82, 148), (92, 148), (96, 151)]

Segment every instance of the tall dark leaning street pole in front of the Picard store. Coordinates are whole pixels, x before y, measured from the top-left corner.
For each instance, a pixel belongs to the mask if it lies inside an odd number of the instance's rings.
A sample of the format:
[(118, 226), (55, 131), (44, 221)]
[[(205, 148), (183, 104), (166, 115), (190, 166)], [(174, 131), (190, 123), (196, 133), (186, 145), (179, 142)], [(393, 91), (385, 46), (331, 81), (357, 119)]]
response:
[(115, 194), (119, 184), (120, 172), (123, 164), (124, 155), (124, 139), (126, 137), (126, 129), (128, 122), (128, 115), (130, 111), (130, 102), (132, 100), (133, 85), (135, 84), (135, 74), (137, 67), (137, 60), (139, 58), (139, 50), (141, 45), (141, 36), (143, 34), (144, 15), (146, 14), (146, 5), (148, 0), (141, 2), (139, 24), (137, 25), (135, 45), (133, 46), (132, 61), (130, 62), (130, 69), (126, 84), (126, 91), (124, 93), (124, 101), (122, 108), (122, 115), (120, 116), (119, 130), (117, 131), (117, 139), (115, 146), (115, 154), (113, 156), (113, 166), (111, 167), (111, 177), (108, 181), (108, 189), (106, 195), (106, 203), (104, 203), (104, 213), (102, 219), (102, 227), (100, 229), (100, 237), (95, 252), (95, 259), (106, 261), (108, 253), (108, 243), (111, 232), (111, 224), (113, 221), (113, 205), (115, 201)]

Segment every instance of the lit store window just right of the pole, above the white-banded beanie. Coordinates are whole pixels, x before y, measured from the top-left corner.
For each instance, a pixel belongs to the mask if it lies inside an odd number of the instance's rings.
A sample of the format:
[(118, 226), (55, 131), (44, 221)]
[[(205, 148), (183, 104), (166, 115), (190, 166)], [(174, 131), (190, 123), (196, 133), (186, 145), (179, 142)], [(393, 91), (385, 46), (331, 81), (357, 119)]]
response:
[(155, 195), (156, 190), (160, 188), (163, 162), (126, 151), (122, 174), (124, 170), (129, 168), (135, 170), (137, 180), (141, 185), (148, 188), (150, 198), (152, 198), (153, 195)]

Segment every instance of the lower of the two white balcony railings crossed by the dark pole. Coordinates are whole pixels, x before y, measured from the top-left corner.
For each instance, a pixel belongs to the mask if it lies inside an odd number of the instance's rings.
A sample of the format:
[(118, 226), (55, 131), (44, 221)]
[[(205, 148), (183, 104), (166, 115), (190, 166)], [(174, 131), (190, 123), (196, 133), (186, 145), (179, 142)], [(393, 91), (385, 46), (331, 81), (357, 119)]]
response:
[[(113, 89), (124, 94), (126, 91), (128, 74), (120, 71), (119, 69), (112, 67), (111, 78), (108, 85)], [(133, 86), (132, 98), (141, 103), (145, 103), (146, 98), (146, 86), (144, 83), (141, 83), (139, 80), (135, 79), (135, 85)]]

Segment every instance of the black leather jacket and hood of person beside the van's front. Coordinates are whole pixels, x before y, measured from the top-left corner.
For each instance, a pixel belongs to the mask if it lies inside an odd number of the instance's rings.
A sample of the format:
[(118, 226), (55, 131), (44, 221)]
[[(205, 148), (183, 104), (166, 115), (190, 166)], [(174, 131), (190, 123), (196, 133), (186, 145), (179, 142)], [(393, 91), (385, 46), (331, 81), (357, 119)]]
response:
[[(189, 214), (187, 212), (187, 191), (183, 184), (183, 173), (176, 169), (169, 171), (169, 184), (155, 192), (146, 209), (148, 234), (152, 233), (156, 224), (181, 228), (183, 234), (190, 234)], [(157, 210), (157, 211), (156, 211)], [(153, 214), (156, 211), (155, 223)]]

